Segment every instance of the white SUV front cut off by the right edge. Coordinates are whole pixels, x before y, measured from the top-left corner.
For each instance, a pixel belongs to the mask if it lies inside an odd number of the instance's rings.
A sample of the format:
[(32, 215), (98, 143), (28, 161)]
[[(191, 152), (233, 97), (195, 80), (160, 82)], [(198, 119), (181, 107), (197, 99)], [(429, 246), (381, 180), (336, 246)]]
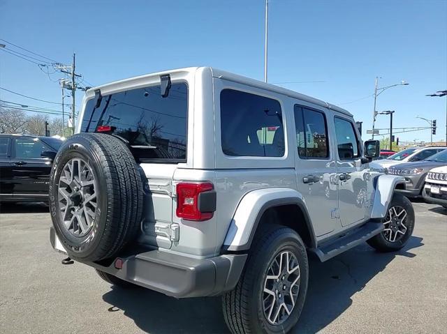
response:
[(429, 203), (447, 208), (447, 165), (436, 167), (428, 172), (423, 197)]

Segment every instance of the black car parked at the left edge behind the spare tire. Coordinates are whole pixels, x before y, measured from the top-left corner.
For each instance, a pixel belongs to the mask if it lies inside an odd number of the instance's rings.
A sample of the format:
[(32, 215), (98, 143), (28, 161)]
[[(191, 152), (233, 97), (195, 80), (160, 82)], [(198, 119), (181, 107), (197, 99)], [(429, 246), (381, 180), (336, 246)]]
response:
[(0, 134), (0, 202), (47, 202), (61, 139)]

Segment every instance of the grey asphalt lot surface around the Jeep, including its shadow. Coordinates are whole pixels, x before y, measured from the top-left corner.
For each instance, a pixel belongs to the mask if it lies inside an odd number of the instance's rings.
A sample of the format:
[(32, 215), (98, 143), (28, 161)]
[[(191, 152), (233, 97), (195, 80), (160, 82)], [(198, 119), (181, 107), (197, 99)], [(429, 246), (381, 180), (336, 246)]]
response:
[[(310, 262), (293, 333), (445, 333), (447, 210), (413, 205), (416, 227), (404, 250), (379, 254), (360, 245)], [(1, 333), (227, 333), (219, 298), (112, 289), (88, 266), (61, 265), (46, 206), (0, 210)]]

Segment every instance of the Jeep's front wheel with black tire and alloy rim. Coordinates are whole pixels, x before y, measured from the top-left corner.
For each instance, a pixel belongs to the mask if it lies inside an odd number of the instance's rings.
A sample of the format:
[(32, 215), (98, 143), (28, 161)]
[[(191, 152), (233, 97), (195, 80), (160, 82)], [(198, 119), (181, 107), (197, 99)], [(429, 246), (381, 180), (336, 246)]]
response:
[(380, 252), (394, 252), (403, 248), (414, 229), (414, 210), (410, 200), (395, 193), (383, 225), (385, 229), (367, 243)]

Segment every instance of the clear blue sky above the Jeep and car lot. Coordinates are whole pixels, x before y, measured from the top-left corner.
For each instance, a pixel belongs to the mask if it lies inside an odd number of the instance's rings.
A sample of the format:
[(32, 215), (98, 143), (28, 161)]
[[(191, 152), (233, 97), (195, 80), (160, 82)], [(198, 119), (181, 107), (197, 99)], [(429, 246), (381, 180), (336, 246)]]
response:
[[(0, 0), (0, 38), (64, 63), (75, 51), (77, 71), (91, 84), (202, 65), (262, 80), (264, 1)], [(405, 79), (409, 86), (385, 91), (377, 109), (395, 110), (399, 128), (426, 126), (416, 116), (437, 119), (434, 139), (445, 139), (446, 100), (425, 94), (447, 88), (447, 1), (270, 0), (268, 76), (307, 82), (284, 86), (348, 109), (364, 122), (365, 139), (374, 77), (379, 86)], [(59, 102), (50, 81), (59, 77), (0, 52), (6, 89)], [(0, 98), (55, 106), (6, 91)], [(379, 115), (376, 128), (388, 124)], [(399, 137), (429, 141), (430, 132)]]

